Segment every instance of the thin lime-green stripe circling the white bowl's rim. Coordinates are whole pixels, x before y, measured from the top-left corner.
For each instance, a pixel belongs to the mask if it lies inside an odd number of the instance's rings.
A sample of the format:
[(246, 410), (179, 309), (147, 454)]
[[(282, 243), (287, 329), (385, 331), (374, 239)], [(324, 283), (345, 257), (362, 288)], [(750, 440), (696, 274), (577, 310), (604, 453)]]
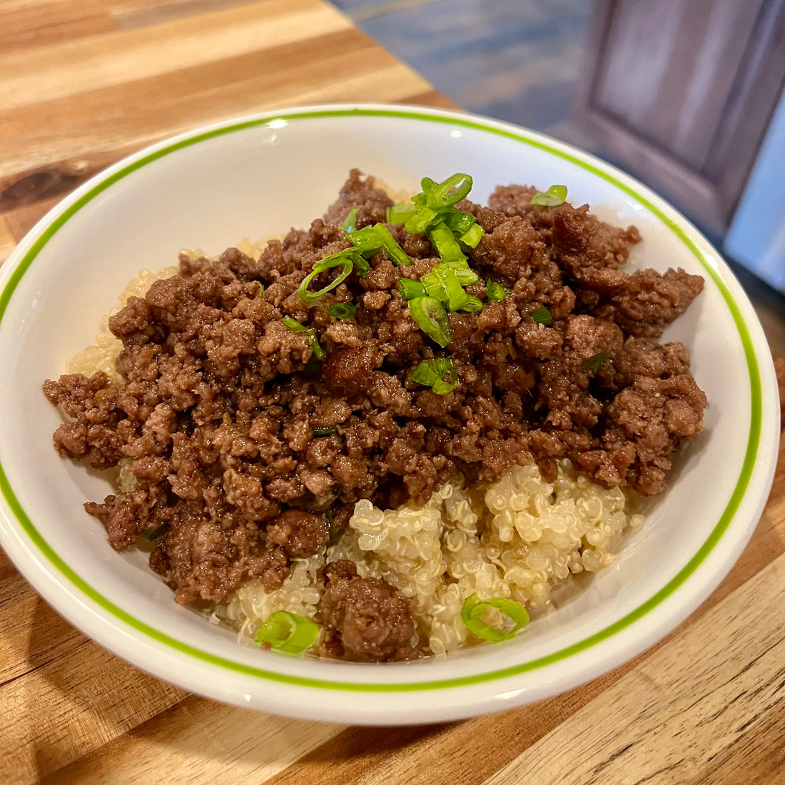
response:
[(30, 268), (30, 265), (33, 263), (33, 261), (35, 261), (35, 257), (37, 257), (43, 247), (46, 246), (46, 243), (49, 243), (49, 240), (57, 234), (60, 228), (62, 228), (71, 217), (77, 214), (83, 206), (89, 203), (101, 192), (104, 192), (111, 185), (122, 180), (122, 178), (126, 177), (126, 175), (135, 172), (136, 170), (141, 169), (143, 166), (147, 166), (149, 163), (161, 159), (165, 155), (169, 155), (172, 152), (176, 152), (182, 148), (190, 147), (192, 144), (199, 144), (199, 142), (224, 136), (226, 133), (234, 133), (235, 131), (246, 130), (256, 126), (265, 126), (268, 125), (268, 123), (274, 122), (276, 120), (294, 122), (298, 120), (314, 118), (346, 117), (352, 115), (363, 117), (389, 117), (394, 119), (418, 120), (422, 122), (435, 122), (451, 126), (462, 126), (464, 128), (478, 130), (483, 133), (493, 133), (498, 137), (503, 137), (512, 141), (520, 142), (522, 144), (527, 144), (529, 147), (537, 148), (543, 152), (549, 153), (550, 155), (555, 155), (557, 158), (571, 162), (575, 164), (575, 166), (580, 166), (582, 169), (589, 171), (595, 174), (597, 177), (601, 177), (602, 180), (612, 184), (615, 188), (618, 188), (619, 191), (622, 191), (627, 195), (632, 196), (634, 199), (637, 199), (638, 203), (643, 205), (652, 215), (659, 218), (659, 220), (662, 221), (663, 224), (666, 225), (666, 227), (677, 236), (681, 243), (684, 243), (685, 246), (688, 247), (688, 249), (699, 261), (703, 269), (707, 272), (708, 276), (710, 276), (710, 278), (714, 281), (717, 289), (720, 290), (722, 297), (725, 299), (725, 303), (728, 305), (728, 310), (731, 312), (733, 321), (736, 324), (736, 329), (739, 331), (739, 338), (741, 338), (744, 348), (744, 355), (747, 360), (747, 369), (750, 374), (750, 436), (747, 440), (747, 450), (744, 454), (744, 462), (741, 472), (739, 473), (739, 479), (736, 482), (736, 487), (733, 489), (733, 493), (730, 500), (728, 501), (728, 505), (725, 507), (725, 511), (717, 521), (717, 525), (714, 527), (714, 530), (711, 532), (706, 542), (703, 543), (697, 553), (692, 557), (692, 559), (688, 561), (685, 567), (679, 571), (674, 579), (670, 580), (666, 586), (663, 586), (663, 588), (655, 593), (653, 597), (650, 597), (648, 601), (641, 604), (633, 612), (623, 616), (622, 619), (619, 619), (612, 625), (605, 627), (604, 630), (601, 630), (600, 632), (595, 633), (592, 636), (579, 641), (578, 643), (572, 644), (567, 648), (560, 649), (558, 652), (553, 652), (552, 654), (540, 657), (538, 659), (532, 659), (527, 663), (518, 663), (517, 665), (510, 666), (509, 668), (494, 670), (485, 674), (473, 674), (471, 676), (441, 679), (438, 681), (417, 681), (395, 685), (374, 684), (371, 682), (354, 682), (349, 684), (341, 681), (325, 681), (306, 677), (290, 676), (287, 674), (279, 674), (274, 671), (263, 670), (261, 668), (254, 668), (241, 663), (235, 663), (230, 659), (218, 657), (217, 655), (210, 654), (209, 652), (203, 652), (199, 648), (185, 644), (182, 641), (177, 641), (175, 638), (170, 637), (165, 633), (160, 632), (159, 630), (155, 630), (148, 624), (141, 622), (139, 619), (136, 619), (126, 611), (123, 611), (122, 608), (119, 608), (117, 605), (108, 601), (108, 599), (97, 592), (97, 590), (93, 589), (93, 587), (90, 586), (88, 582), (77, 575), (75, 571), (73, 571), (68, 566), (68, 564), (66, 564), (64, 560), (62, 560), (57, 555), (57, 553), (55, 553), (52, 547), (49, 546), (49, 543), (46, 542), (46, 539), (44, 539), (38, 529), (35, 528), (35, 524), (33, 524), (33, 522), (30, 520), (30, 517), (27, 516), (27, 513), (25, 513), (24, 509), (20, 505), (19, 499), (16, 498), (16, 494), (9, 484), (8, 477), (6, 476), (2, 466), (0, 466), (0, 491), (2, 491), (2, 495), (5, 497), (5, 501), (8, 503), (9, 509), (11, 509), (13, 515), (16, 517), (16, 520), (19, 521), (21, 528), (23, 528), (32, 544), (38, 549), (38, 551), (40, 551), (40, 553), (42, 553), (44, 557), (46, 557), (47, 560), (49, 560), (51, 564), (53, 564), (55, 568), (57, 568), (58, 571), (60, 571), (62, 575), (64, 575), (66, 579), (68, 579), (69, 582), (71, 582), (79, 591), (88, 597), (89, 600), (100, 606), (100, 608), (103, 608), (104, 611), (115, 616), (115, 618), (122, 621), (122, 623), (125, 623), (145, 636), (151, 637), (153, 640), (158, 641), (161, 644), (176, 649), (178, 652), (191, 656), (195, 659), (199, 659), (204, 663), (217, 665), (227, 670), (235, 671), (235, 673), (258, 677), (269, 681), (277, 681), (288, 685), (342, 690), (346, 692), (413, 692), (418, 690), (444, 689), (451, 687), (462, 687), (465, 685), (476, 685), (484, 681), (494, 681), (496, 679), (514, 676), (517, 674), (524, 674), (532, 670), (537, 670), (553, 663), (560, 662), (560, 660), (568, 659), (568, 657), (579, 654), (579, 652), (584, 652), (586, 649), (591, 648), (601, 641), (607, 640), (609, 637), (615, 635), (615, 633), (624, 630), (634, 622), (637, 622), (638, 619), (643, 618), (644, 615), (652, 611), (653, 608), (656, 608), (659, 604), (666, 600), (667, 597), (670, 597), (670, 595), (674, 593), (674, 591), (677, 590), (677, 588), (681, 586), (689, 578), (689, 576), (692, 575), (692, 573), (696, 571), (699, 565), (702, 564), (704, 560), (706, 560), (712, 550), (714, 550), (714, 547), (717, 546), (717, 542), (720, 541), (722, 535), (727, 530), (733, 516), (736, 514), (736, 510), (739, 509), (739, 504), (747, 491), (747, 486), (750, 482), (750, 477), (752, 476), (755, 455), (758, 452), (758, 444), (760, 443), (761, 438), (761, 377), (758, 368), (758, 358), (755, 356), (754, 347), (750, 338), (750, 332), (747, 328), (747, 323), (745, 323), (743, 319), (739, 305), (736, 303), (736, 300), (733, 298), (730, 290), (728, 290), (728, 287), (725, 286), (725, 282), (721, 279), (721, 276), (717, 270), (713, 265), (710, 264), (707, 258), (699, 250), (698, 246), (692, 242), (692, 239), (690, 239), (685, 234), (684, 230), (679, 225), (677, 225), (675, 221), (663, 213), (663, 210), (660, 210), (659, 207), (655, 206), (643, 195), (638, 193), (634, 188), (623, 183), (622, 181), (619, 181), (611, 173), (594, 166), (590, 162), (583, 161), (575, 155), (571, 155), (568, 152), (563, 152), (557, 148), (553, 148), (550, 146), (550, 144), (546, 144), (543, 141), (527, 137), (523, 133), (495, 128), (494, 126), (486, 125), (483, 122), (479, 122), (475, 119), (464, 119), (461, 117), (443, 115), (430, 115), (424, 112), (408, 111), (405, 109), (352, 108), (325, 109), (316, 111), (293, 111), (282, 112), (278, 115), (267, 117), (265, 119), (254, 119), (247, 120), (245, 122), (238, 122), (230, 126), (223, 126), (221, 128), (196, 134), (193, 137), (181, 139), (180, 141), (174, 142), (165, 148), (161, 148), (155, 152), (150, 153), (149, 155), (145, 155), (143, 158), (130, 163), (128, 166), (125, 166), (121, 170), (111, 174), (104, 181), (101, 181), (94, 188), (89, 190), (89, 192), (86, 192), (79, 199), (77, 199), (75, 203), (73, 203), (70, 207), (68, 207), (67, 210), (64, 211), (63, 214), (56, 217), (54, 221), (48, 227), (46, 227), (44, 232), (42, 232), (42, 235), (35, 241), (33, 246), (31, 246), (31, 249), (27, 251), (27, 254), (24, 255), (24, 258), (20, 261), (13, 274), (9, 277), (2, 294), (0, 294), (0, 321), (2, 321), (3, 316), (5, 316), (5, 311), (8, 308), (13, 292), (19, 285), (20, 280), (24, 276), (24, 273), (27, 272), (28, 268)]

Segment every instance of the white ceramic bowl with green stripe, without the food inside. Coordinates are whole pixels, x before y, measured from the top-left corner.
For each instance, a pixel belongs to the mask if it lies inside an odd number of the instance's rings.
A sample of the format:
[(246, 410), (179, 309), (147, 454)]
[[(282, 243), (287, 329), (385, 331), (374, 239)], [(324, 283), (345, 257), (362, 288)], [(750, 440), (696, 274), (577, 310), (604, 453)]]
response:
[[(414, 189), (428, 174), (564, 183), (575, 203), (634, 223), (631, 266), (699, 273), (706, 289), (666, 339), (685, 341), (706, 430), (677, 461), (612, 567), (524, 634), (416, 663), (298, 659), (240, 646), (178, 607), (142, 553), (115, 553), (86, 499), (103, 480), (60, 460), (41, 392), (88, 345), (141, 268), (181, 247), (217, 253), (306, 226), (352, 166)], [(220, 123), (111, 166), (52, 210), (0, 270), (0, 542), (36, 590), (148, 673), (239, 706), (365, 724), (444, 721), (553, 696), (604, 674), (692, 612), (739, 557), (772, 481), (776, 383), (758, 320), (717, 251), (663, 199), (566, 144), (502, 122), (414, 107), (331, 106)]]

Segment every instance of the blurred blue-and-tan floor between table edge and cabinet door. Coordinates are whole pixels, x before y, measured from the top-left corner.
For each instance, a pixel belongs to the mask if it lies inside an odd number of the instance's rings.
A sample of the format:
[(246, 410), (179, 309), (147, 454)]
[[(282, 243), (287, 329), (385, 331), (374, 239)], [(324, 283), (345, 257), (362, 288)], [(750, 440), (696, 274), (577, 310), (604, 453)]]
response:
[(455, 103), (573, 141), (586, 0), (333, 2)]

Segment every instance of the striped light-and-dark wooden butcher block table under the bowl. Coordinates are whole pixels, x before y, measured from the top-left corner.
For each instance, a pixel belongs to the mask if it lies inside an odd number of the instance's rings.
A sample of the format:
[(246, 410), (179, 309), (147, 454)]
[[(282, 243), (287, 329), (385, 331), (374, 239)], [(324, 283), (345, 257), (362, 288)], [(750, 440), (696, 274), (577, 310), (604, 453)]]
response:
[[(356, 100), (451, 105), (321, 0), (0, 0), (0, 261), (145, 144)], [(690, 619), (597, 681), (491, 717), (348, 728), (214, 703), (105, 652), (2, 553), (0, 608), (9, 785), (785, 783), (783, 451), (752, 541)]]

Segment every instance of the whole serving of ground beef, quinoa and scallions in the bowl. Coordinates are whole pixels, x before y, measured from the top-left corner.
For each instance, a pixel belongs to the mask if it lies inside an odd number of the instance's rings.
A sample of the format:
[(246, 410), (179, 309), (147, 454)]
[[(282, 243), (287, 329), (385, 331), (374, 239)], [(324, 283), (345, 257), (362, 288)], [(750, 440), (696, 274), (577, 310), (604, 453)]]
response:
[(703, 279), (623, 272), (637, 229), (563, 186), (470, 187), (352, 171), (308, 230), (137, 282), (46, 382), (60, 455), (117, 476), (86, 509), (179, 603), (341, 659), (500, 641), (665, 490), (707, 400), (655, 339)]

